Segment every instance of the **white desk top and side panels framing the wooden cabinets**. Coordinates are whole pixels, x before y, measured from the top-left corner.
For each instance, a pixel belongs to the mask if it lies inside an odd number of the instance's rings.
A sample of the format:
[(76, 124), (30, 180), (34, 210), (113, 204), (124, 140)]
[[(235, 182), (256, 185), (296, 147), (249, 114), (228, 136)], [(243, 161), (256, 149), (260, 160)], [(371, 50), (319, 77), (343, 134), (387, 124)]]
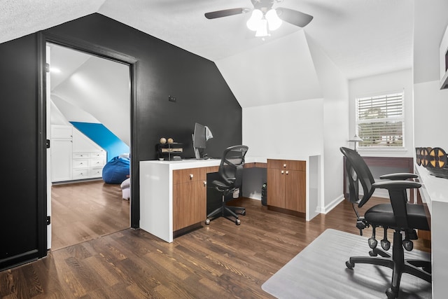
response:
[[(317, 191), (317, 169), (320, 157), (307, 157), (307, 221), (318, 214), (320, 192)], [(198, 167), (214, 167), (221, 160), (140, 161), (140, 228), (173, 242), (173, 171)], [(246, 158), (247, 163), (266, 163), (267, 158)], [(310, 168), (311, 167), (311, 168)], [(261, 186), (260, 186), (261, 188)], [(310, 192), (311, 190), (311, 192)], [(311, 198), (311, 200), (310, 200)], [(309, 212), (311, 211), (311, 212)], [(204, 215), (205, 221), (206, 215)]]

